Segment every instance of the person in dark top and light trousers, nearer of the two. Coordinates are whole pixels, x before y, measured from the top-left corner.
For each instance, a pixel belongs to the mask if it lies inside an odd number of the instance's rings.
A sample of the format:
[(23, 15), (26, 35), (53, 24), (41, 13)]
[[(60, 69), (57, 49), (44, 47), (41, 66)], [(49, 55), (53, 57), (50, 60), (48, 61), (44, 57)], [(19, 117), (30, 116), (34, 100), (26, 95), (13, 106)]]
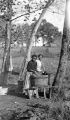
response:
[(29, 89), (34, 86), (34, 79), (36, 78), (37, 72), (37, 56), (32, 55), (31, 60), (27, 64), (27, 76), (25, 81), (24, 89)]

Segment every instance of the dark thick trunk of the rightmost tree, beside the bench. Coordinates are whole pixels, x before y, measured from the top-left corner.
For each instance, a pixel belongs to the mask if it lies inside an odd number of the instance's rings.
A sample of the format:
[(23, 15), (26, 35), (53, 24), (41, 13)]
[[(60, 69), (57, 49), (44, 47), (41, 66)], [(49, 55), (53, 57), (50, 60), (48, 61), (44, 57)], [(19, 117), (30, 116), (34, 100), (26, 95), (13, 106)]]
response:
[(68, 1), (66, 1), (66, 10), (65, 10), (65, 20), (64, 20), (64, 28), (63, 28), (63, 36), (62, 36), (62, 45), (61, 45), (61, 52), (60, 52), (60, 59), (58, 64), (58, 69), (54, 78), (53, 86), (58, 85), (59, 89), (62, 87), (62, 82), (65, 77), (66, 68), (67, 68), (67, 59), (68, 59), (68, 45), (70, 39), (70, 30), (69, 30), (69, 23), (68, 23), (68, 11), (67, 5)]

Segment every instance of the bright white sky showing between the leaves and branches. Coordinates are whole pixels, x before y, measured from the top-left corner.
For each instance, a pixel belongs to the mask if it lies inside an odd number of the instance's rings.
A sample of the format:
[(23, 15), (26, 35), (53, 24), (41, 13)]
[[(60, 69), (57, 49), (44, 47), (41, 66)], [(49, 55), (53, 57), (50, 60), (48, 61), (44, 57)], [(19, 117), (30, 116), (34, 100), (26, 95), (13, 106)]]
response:
[[(18, 0), (20, 1), (20, 0)], [(23, 1), (23, 0), (21, 0)], [(26, 0), (28, 1), (28, 0)], [(37, 2), (39, 2), (38, 0), (35, 0)], [(21, 12), (19, 12), (21, 9), (21, 6), (18, 5), (18, 14), (16, 16), (19, 16), (21, 15)], [(64, 8), (63, 8), (64, 9)], [(52, 13), (52, 11), (56, 11), (56, 13)], [(39, 11), (40, 12), (40, 11)], [(63, 31), (63, 24), (64, 24), (64, 14), (59, 12), (59, 11), (56, 9), (56, 8), (53, 8), (51, 7), (51, 9), (48, 9), (46, 14), (44, 15), (44, 18), (52, 23), (54, 26), (58, 27), (59, 31)], [(32, 19), (36, 17), (37, 19), (39, 18), (39, 14), (38, 14), (38, 11), (36, 13), (33, 13), (30, 15), (29, 17), (29, 20), (27, 21), (28, 24), (31, 24), (32, 23)], [(24, 16), (20, 17), (19, 19), (15, 20), (14, 21), (15, 24), (23, 24), (23, 23), (26, 23), (24, 22)]]

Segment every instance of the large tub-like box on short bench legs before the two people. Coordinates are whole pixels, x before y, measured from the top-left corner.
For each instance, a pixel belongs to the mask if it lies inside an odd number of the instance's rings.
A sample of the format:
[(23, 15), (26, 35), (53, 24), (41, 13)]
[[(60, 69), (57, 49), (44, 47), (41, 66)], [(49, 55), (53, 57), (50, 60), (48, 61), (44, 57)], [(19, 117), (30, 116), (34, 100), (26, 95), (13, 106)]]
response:
[[(29, 93), (29, 98), (31, 99), (30, 94), (34, 94), (34, 91), (36, 91), (36, 97), (39, 98), (38, 95), (38, 90), (43, 89), (44, 92), (44, 98), (46, 99), (46, 89), (50, 87), (50, 74), (48, 75), (41, 75), (40, 77), (37, 77), (35, 80), (35, 86), (32, 87), (28, 93)], [(32, 91), (31, 91), (32, 90)], [(31, 93), (32, 92), (32, 93)]]

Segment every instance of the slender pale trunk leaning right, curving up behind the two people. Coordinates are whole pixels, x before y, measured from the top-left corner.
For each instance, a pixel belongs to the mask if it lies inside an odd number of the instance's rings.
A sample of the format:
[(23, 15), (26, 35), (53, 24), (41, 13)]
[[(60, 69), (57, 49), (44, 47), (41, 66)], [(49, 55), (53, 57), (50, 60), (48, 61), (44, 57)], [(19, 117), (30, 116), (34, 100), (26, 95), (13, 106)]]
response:
[(32, 49), (32, 45), (33, 45), (33, 42), (35, 40), (35, 35), (36, 35), (36, 32), (42, 22), (42, 19), (44, 17), (44, 14), (46, 13), (46, 10), (47, 8), (54, 2), (54, 0), (48, 0), (47, 2), (47, 5), (45, 6), (44, 10), (42, 11), (37, 23), (36, 23), (36, 26), (34, 27), (34, 30), (32, 32), (32, 35), (31, 35), (31, 39), (30, 39), (30, 43), (28, 45), (28, 48), (27, 48), (27, 51), (26, 51), (26, 56), (25, 56), (25, 59), (24, 59), (24, 66), (22, 67), (21, 69), (21, 72), (20, 72), (20, 75), (19, 75), (19, 79), (20, 80), (25, 80), (25, 76), (26, 76), (26, 67), (27, 67), (27, 63), (28, 61), (30, 60), (30, 57), (31, 57), (31, 49)]

